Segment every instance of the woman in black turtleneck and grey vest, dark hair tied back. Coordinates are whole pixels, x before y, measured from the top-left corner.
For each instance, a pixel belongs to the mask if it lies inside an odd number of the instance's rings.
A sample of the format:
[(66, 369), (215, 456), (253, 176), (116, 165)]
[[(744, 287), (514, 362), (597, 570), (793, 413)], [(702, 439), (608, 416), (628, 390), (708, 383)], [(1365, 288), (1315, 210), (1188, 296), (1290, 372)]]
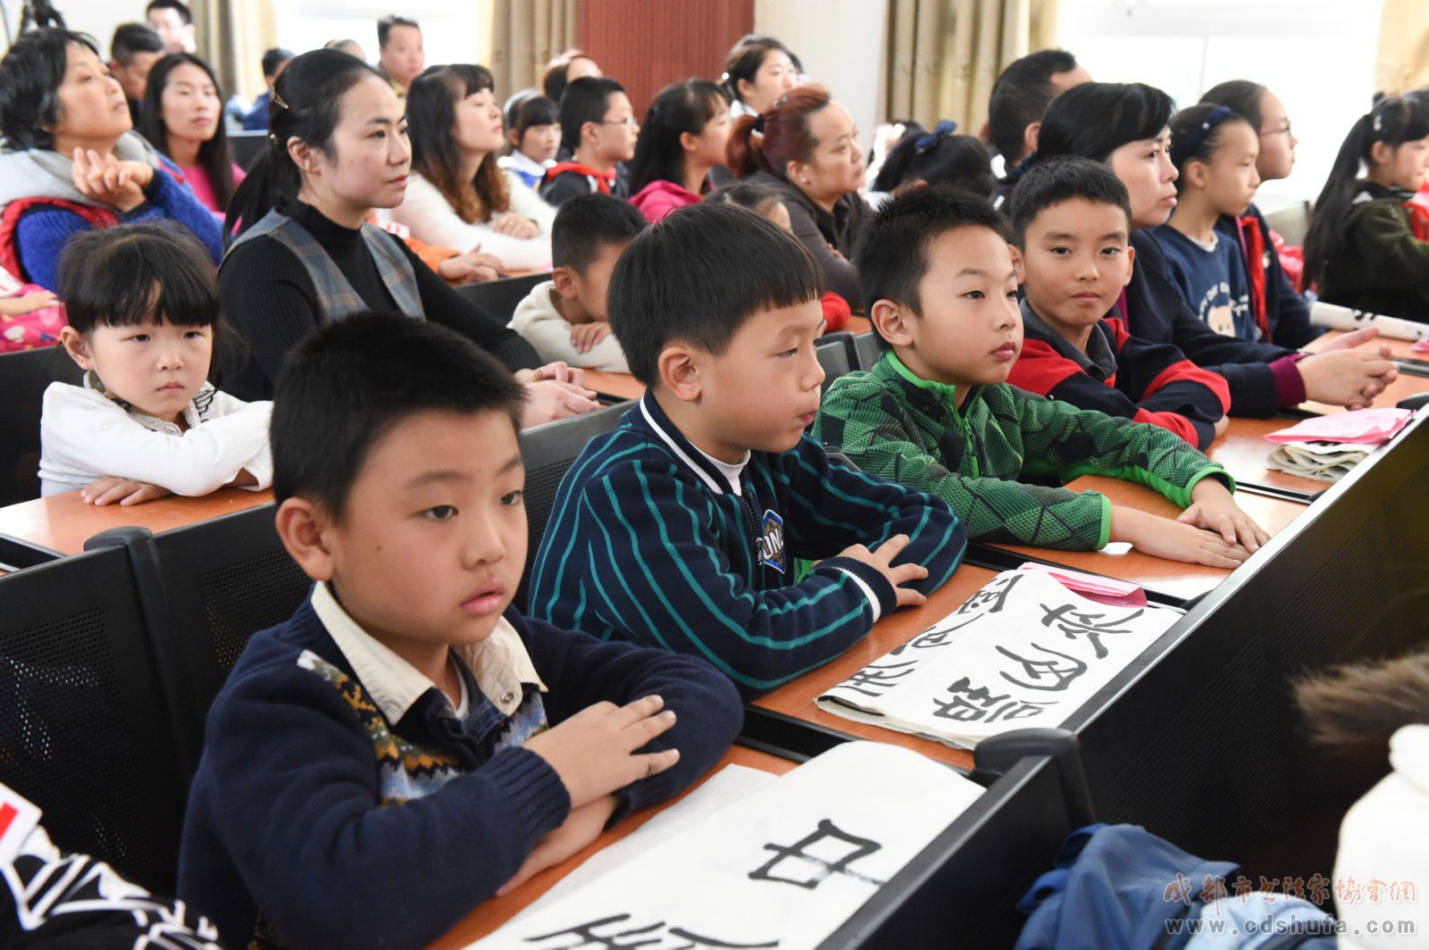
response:
[(283, 357), (316, 327), (386, 310), (443, 323), (517, 370), (530, 394), (527, 424), (593, 409), (579, 371), (534, 369), (526, 340), (364, 224), (373, 209), (402, 203), (410, 170), (402, 100), (374, 69), (337, 50), (289, 63), (273, 86), (269, 146), (229, 203), (237, 237), (219, 284), (252, 360), (226, 389), (266, 399)]

